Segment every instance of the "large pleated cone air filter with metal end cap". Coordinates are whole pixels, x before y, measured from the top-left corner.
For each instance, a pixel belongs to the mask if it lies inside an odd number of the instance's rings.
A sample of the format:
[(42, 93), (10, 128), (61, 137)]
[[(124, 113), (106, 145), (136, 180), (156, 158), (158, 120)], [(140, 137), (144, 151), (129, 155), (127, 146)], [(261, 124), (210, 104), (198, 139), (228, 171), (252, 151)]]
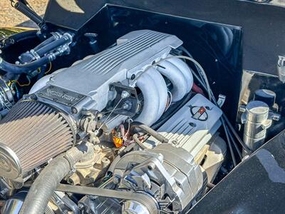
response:
[(73, 146), (63, 113), (38, 101), (19, 101), (0, 121), (0, 175), (15, 180)]

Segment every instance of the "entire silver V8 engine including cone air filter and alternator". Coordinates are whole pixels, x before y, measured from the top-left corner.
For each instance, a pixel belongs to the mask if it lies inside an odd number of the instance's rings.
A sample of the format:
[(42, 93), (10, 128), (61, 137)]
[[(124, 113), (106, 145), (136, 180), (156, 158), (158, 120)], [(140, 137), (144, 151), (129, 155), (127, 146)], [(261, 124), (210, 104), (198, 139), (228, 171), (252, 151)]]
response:
[[(190, 208), (217, 175), (226, 146), (217, 134), (222, 111), (197, 94), (199, 87), (192, 91), (192, 68), (177, 56), (181, 46), (177, 36), (132, 31), (36, 81), (0, 121), (3, 182), (22, 188), (52, 160), (36, 180), (50, 179), (51, 190), (86, 191), (78, 201), (86, 213)], [(50, 170), (63, 174), (43, 178)], [(68, 184), (58, 185), (62, 179)], [(25, 203), (21, 212), (33, 213)]]

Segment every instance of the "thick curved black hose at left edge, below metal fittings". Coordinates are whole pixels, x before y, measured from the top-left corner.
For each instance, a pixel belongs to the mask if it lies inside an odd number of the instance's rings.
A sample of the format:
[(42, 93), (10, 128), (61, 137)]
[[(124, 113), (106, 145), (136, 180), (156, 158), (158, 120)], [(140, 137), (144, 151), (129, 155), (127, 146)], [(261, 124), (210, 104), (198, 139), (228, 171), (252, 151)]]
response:
[(53, 61), (55, 57), (51, 55), (43, 56), (36, 61), (32, 61), (31, 63), (26, 63), (24, 65), (16, 65), (4, 61), (3, 58), (0, 57), (0, 69), (6, 71), (7, 73), (14, 73), (14, 74), (21, 74), (21, 73), (28, 73), (29, 71), (34, 71), (37, 68), (50, 63)]

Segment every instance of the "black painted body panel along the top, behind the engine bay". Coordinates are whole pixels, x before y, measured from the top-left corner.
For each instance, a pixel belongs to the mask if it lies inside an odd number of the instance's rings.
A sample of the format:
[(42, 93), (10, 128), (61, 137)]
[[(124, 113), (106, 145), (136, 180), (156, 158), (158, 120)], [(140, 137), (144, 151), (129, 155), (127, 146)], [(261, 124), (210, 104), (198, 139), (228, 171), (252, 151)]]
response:
[[(69, 0), (68, 0), (69, 1)], [(84, 13), (64, 9), (50, 0), (45, 19), (71, 29), (81, 26), (105, 4), (118, 4), (191, 19), (242, 26), (244, 69), (276, 74), (277, 56), (285, 54), (285, 8), (235, 0), (97, 0), (74, 1)], [(68, 17), (68, 19), (66, 18)]]

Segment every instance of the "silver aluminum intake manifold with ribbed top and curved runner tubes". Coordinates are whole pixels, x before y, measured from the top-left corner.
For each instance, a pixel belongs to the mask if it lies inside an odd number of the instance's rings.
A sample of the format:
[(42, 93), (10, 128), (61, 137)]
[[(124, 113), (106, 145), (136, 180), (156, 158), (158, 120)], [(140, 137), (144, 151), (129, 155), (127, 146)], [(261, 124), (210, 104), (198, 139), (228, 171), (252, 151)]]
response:
[[(30, 93), (68, 113), (102, 111), (115, 96), (110, 84), (120, 82), (140, 88), (143, 106), (136, 121), (152, 125), (167, 106), (169, 89), (165, 78), (172, 83), (174, 102), (192, 88), (192, 73), (187, 64), (179, 58), (169, 58), (170, 51), (181, 45), (182, 41), (170, 34), (132, 31), (120, 37), (116, 46), (43, 77)], [(159, 66), (152, 66), (157, 61)]]

